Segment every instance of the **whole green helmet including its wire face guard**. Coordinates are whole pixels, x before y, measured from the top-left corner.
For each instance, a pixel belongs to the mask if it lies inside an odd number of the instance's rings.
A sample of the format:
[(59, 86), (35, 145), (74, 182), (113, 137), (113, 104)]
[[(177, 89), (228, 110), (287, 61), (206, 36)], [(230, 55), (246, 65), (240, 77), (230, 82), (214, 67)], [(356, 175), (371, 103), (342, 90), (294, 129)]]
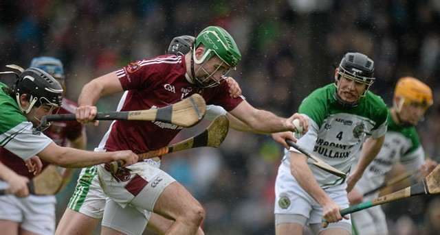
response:
[[(195, 83), (197, 86), (201, 88), (208, 88), (213, 86), (218, 86), (223, 82), (225, 79), (225, 75), (228, 73), (229, 69), (226, 71), (223, 71), (222, 73), (222, 79), (219, 79), (218, 81), (215, 80), (212, 75), (216, 73), (221, 65), (224, 63), (227, 67), (235, 69), (236, 64), (239, 63), (241, 60), (241, 53), (236, 46), (236, 43), (232, 36), (228, 32), (225, 31), (225, 29), (222, 29), (218, 26), (210, 26), (206, 29), (203, 29), (203, 31), (197, 36), (195, 40), (195, 48), (197, 49), (203, 45), (205, 47), (205, 50), (203, 51), (203, 55), (201, 55), (201, 58), (197, 59), (195, 55), (195, 50), (192, 51), (192, 57), (191, 57), (191, 72), (192, 77), (194, 77)], [(208, 73), (205, 69), (203, 69), (203, 65), (210, 60), (210, 58), (217, 56), (221, 59), (222, 64), (220, 64), (217, 69), (212, 72)], [(204, 79), (199, 79), (195, 77), (194, 73), (194, 63), (201, 64), (199, 71), (205, 71), (207, 74), (207, 77)]]

